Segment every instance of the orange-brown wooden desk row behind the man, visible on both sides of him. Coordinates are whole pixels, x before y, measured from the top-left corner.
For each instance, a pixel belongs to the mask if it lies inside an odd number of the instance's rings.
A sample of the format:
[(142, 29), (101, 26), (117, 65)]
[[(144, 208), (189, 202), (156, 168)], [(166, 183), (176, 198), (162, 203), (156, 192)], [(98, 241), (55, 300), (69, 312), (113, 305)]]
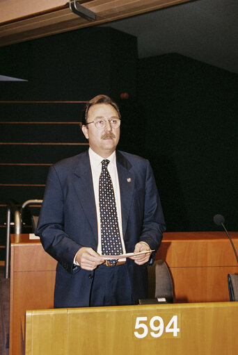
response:
[[(230, 234), (238, 249), (238, 232)], [(164, 233), (159, 258), (170, 267), (175, 302), (228, 301), (227, 274), (238, 273), (238, 266), (225, 233)], [(11, 236), (10, 355), (21, 354), (26, 310), (53, 308), (55, 269), (56, 261), (40, 240), (29, 234)]]

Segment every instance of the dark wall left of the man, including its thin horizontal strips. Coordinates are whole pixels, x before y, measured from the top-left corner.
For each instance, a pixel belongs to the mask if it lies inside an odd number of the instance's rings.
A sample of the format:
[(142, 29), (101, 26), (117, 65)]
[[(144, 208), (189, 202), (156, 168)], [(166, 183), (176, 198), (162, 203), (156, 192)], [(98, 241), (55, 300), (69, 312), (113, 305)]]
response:
[[(87, 28), (0, 48), (1, 101), (87, 101), (121, 92), (136, 97), (137, 40), (111, 28)], [(84, 104), (0, 104), (0, 260), (6, 203), (42, 199), (49, 165), (88, 148)], [(44, 123), (43, 123), (44, 122)], [(38, 215), (38, 207), (31, 208)], [(25, 214), (24, 232), (31, 231)]]

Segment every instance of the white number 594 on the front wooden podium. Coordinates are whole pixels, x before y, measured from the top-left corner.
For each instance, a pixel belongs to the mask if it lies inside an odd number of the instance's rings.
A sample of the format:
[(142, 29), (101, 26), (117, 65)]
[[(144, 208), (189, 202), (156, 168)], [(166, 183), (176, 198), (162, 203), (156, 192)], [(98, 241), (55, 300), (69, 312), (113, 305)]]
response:
[(173, 315), (166, 326), (163, 318), (159, 315), (154, 315), (150, 320), (148, 320), (148, 317), (136, 317), (134, 329), (140, 329), (139, 331), (134, 331), (134, 335), (138, 339), (145, 337), (160, 338), (163, 334), (163, 338), (171, 338), (172, 334), (172, 338), (180, 338), (180, 334), (178, 334), (180, 333), (180, 328), (178, 328), (177, 325), (177, 315)]

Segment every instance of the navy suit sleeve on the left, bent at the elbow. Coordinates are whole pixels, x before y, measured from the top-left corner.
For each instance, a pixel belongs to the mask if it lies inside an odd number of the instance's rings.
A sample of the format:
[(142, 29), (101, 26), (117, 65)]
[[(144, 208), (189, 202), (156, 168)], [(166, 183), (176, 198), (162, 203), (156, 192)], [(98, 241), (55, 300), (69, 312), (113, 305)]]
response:
[(47, 177), (35, 235), (40, 236), (45, 251), (72, 272), (74, 256), (82, 246), (64, 231), (64, 203), (61, 181), (53, 166)]

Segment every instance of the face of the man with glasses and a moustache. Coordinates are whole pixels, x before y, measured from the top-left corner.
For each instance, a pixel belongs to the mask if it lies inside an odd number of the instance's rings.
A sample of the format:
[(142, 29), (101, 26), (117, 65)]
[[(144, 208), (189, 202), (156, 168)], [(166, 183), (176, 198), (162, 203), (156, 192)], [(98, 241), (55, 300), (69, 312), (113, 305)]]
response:
[(108, 122), (108, 120), (118, 117), (117, 110), (110, 104), (95, 104), (88, 110), (87, 122), (93, 122), (98, 118), (106, 120), (104, 129), (97, 129), (94, 123), (82, 126), (82, 131), (88, 139), (91, 149), (102, 158), (108, 158), (118, 145), (120, 126), (112, 129)]

